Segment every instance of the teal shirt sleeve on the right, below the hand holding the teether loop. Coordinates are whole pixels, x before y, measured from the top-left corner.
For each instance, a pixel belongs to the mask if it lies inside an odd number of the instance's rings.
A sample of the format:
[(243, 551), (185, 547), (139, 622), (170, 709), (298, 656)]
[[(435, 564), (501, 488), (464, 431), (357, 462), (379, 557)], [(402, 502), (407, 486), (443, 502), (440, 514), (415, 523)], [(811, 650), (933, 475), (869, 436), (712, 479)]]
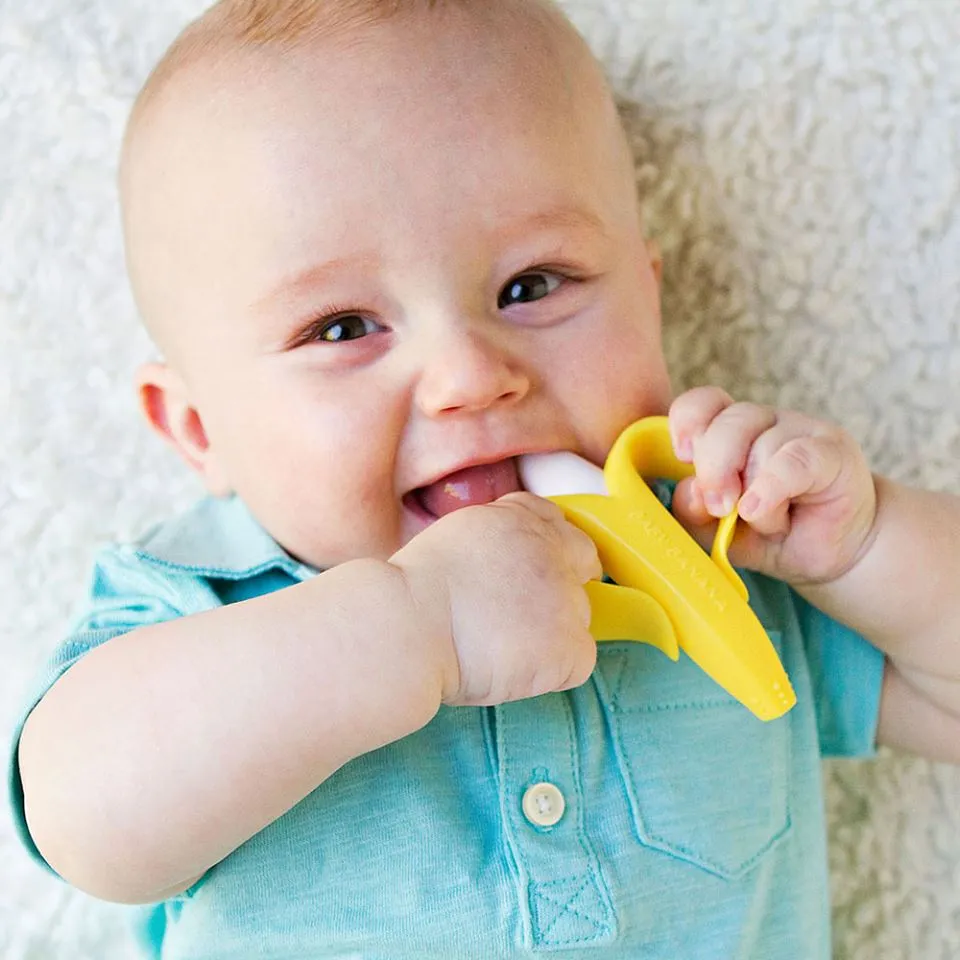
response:
[(821, 754), (874, 756), (886, 665), (883, 652), (803, 597), (794, 593), (793, 598), (810, 671)]

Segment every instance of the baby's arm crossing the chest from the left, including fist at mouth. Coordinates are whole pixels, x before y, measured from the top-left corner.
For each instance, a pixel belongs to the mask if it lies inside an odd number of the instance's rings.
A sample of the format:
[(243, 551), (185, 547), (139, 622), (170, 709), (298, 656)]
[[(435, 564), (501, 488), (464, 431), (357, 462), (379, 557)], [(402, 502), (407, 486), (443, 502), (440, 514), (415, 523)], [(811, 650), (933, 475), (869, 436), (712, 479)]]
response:
[(34, 842), (95, 896), (172, 896), (441, 702), (584, 682), (583, 584), (599, 574), (556, 507), (516, 494), (445, 517), (390, 562), (110, 640), (25, 725)]

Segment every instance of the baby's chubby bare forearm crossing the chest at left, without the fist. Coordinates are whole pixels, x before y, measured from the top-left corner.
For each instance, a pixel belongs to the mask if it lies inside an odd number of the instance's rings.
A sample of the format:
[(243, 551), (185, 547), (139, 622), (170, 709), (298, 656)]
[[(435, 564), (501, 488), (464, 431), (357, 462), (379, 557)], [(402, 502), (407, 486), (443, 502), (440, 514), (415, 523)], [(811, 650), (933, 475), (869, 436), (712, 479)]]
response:
[(356, 561), (92, 651), (24, 728), (40, 851), (103, 899), (182, 888), (441, 697), (403, 577)]

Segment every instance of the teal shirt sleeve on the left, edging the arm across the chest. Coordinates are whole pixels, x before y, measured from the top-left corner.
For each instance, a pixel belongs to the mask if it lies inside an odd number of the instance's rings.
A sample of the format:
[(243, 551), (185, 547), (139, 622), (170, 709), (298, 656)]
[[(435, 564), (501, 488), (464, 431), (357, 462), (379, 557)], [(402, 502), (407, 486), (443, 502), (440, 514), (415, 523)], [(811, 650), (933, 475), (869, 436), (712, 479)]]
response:
[(52, 868), (34, 844), (24, 816), (23, 784), (17, 757), (24, 724), (54, 683), (91, 650), (138, 627), (182, 616), (183, 601), (189, 598), (177, 589), (175, 581), (176, 578), (167, 577), (162, 571), (140, 561), (130, 548), (104, 550), (94, 566), (85, 612), (68, 639), (48, 660), (19, 715), (8, 765), (13, 820), (28, 853), (48, 869)]

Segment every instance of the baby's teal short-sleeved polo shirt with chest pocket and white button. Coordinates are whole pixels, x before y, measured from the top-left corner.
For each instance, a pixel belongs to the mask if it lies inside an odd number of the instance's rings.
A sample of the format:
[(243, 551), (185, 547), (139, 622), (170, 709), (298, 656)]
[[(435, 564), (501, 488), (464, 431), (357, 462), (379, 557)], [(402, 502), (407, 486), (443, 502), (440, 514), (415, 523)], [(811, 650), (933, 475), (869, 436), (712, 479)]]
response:
[[(236, 498), (203, 500), (99, 555), (23, 719), (113, 637), (316, 574)], [(184, 894), (131, 908), (145, 955), (828, 960), (820, 760), (873, 752), (884, 659), (783, 584), (745, 580), (797, 692), (785, 717), (755, 719), (683, 655), (604, 643), (578, 689), (441, 707)], [(43, 862), (23, 817), (20, 729), (13, 809)]]

